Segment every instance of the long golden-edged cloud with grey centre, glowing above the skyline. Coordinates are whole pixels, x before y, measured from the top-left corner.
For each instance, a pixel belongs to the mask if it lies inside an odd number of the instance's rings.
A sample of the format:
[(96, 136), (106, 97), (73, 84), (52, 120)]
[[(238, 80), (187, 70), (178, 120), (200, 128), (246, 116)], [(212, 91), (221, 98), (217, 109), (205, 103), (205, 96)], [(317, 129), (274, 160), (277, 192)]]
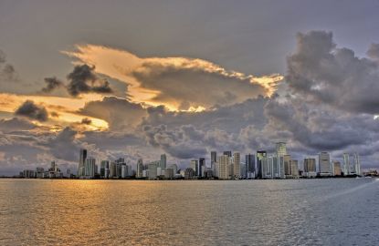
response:
[(203, 59), (142, 58), (104, 46), (77, 46), (76, 51), (65, 54), (127, 83), (132, 102), (164, 105), (170, 110), (203, 110), (269, 96), (282, 79), (277, 74), (255, 77), (227, 70)]

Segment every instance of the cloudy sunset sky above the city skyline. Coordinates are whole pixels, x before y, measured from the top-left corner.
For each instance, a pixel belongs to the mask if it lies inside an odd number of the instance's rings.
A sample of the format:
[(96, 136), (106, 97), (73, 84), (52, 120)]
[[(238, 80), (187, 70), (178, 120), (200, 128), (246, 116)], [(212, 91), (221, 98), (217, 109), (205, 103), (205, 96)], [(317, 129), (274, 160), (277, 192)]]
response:
[(379, 168), (379, 1), (0, 0), (0, 174), (79, 149), (358, 152)]

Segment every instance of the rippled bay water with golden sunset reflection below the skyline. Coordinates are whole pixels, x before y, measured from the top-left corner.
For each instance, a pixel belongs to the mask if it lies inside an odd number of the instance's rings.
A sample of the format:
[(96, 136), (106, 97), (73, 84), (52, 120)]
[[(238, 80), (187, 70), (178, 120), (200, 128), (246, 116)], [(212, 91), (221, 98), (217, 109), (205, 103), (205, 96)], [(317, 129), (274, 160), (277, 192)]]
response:
[(0, 245), (379, 245), (377, 179), (0, 179)]

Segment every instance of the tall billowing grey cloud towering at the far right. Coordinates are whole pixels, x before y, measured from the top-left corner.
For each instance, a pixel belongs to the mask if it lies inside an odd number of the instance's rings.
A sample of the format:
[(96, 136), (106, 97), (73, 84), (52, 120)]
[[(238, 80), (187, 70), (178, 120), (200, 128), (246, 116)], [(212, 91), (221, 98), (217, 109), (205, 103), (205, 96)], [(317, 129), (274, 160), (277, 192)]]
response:
[[(377, 55), (376, 45), (369, 55)], [(286, 81), (299, 97), (352, 112), (379, 112), (379, 64), (337, 47), (331, 32), (298, 34), (287, 66)]]

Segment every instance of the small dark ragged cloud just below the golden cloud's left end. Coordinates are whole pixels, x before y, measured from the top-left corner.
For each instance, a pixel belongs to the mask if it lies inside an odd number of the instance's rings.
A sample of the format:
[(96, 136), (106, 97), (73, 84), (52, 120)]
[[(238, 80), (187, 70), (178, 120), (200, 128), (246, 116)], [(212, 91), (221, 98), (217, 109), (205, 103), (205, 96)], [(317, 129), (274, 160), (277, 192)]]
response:
[(105, 79), (100, 79), (94, 73), (95, 67), (88, 65), (79, 65), (74, 67), (74, 70), (68, 74), (68, 93), (71, 96), (78, 96), (80, 93), (98, 92), (111, 93), (110, 82)]

